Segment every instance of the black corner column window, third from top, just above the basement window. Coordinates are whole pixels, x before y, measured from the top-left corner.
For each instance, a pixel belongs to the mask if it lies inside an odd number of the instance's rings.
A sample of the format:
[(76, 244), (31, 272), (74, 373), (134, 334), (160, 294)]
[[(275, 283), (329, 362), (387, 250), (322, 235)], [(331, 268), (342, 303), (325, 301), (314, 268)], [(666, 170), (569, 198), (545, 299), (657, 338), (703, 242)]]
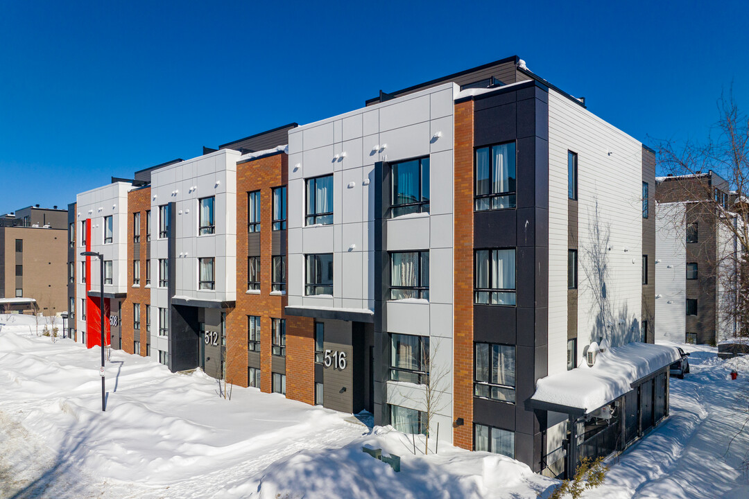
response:
[(476, 397), (515, 402), (515, 347), (476, 343)]

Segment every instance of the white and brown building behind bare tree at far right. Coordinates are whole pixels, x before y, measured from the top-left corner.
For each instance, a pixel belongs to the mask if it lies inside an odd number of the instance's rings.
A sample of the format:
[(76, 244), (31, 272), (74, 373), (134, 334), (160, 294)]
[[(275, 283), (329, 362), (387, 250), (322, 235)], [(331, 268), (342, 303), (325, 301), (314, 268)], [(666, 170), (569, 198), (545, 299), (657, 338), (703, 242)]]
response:
[[(715, 345), (736, 336), (741, 227), (736, 193), (715, 171), (658, 177), (655, 188), (656, 333), (658, 340)], [(721, 212), (721, 215), (718, 215)]]

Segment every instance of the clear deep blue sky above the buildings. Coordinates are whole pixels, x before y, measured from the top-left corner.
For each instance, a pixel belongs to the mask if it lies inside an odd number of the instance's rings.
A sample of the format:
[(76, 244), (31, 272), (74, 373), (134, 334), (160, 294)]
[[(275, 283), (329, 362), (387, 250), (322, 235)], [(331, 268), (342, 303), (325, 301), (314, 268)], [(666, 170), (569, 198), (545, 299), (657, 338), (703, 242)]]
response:
[(0, 2), (0, 213), (509, 55), (640, 141), (749, 111), (747, 1), (259, 3)]

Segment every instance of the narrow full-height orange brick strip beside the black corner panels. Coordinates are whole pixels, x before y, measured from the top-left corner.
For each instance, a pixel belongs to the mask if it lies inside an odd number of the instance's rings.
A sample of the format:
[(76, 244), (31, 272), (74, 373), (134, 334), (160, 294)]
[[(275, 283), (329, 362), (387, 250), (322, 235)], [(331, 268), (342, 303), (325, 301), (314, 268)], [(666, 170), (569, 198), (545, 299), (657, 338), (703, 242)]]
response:
[(454, 418), (456, 447), (473, 449), (473, 100), (455, 105)]

